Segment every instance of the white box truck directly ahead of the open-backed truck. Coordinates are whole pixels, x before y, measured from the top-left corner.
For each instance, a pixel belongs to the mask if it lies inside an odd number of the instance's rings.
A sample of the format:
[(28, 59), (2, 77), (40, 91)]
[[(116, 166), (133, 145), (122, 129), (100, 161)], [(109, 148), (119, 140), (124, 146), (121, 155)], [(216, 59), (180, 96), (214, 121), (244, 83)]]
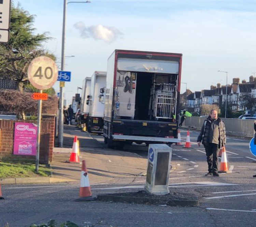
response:
[(104, 96), (102, 90), (106, 87), (106, 72), (95, 71), (91, 76), (90, 96), (86, 100), (90, 110), (87, 120), (88, 132), (103, 132)]

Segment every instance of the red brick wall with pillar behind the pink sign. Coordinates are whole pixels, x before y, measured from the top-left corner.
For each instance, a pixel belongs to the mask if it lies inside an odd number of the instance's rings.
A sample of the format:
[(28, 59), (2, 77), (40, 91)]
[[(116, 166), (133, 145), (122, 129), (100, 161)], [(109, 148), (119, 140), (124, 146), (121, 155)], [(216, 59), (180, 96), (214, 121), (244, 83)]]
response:
[[(14, 123), (26, 122), (37, 124), (36, 120), (0, 119), (0, 160), (35, 162), (35, 156), (13, 155)], [(53, 160), (55, 115), (43, 114), (41, 120), (39, 162), (49, 164)]]

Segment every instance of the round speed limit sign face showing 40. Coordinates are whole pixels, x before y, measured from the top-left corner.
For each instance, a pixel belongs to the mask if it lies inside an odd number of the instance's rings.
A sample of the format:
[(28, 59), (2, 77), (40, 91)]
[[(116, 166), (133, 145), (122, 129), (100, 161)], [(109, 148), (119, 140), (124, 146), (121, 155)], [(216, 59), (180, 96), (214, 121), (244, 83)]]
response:
[(53, 86), (58, 78), (58, 68), (55, 62), (46, 56), (34, 58), (28, 66), (28, 80), (39, 90)]

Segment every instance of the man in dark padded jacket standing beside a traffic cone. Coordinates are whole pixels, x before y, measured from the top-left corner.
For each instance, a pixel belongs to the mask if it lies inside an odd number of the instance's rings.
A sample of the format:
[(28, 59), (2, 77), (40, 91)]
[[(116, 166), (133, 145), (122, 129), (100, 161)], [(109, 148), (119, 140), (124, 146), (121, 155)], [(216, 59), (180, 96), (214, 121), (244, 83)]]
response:
[(198, 146), (200, 146), (201, 141), (204, 145), (208, 162), (208, 173), (205, 176), (213, 175), (218, 177), (218, 154), (219, 149), (226, 144), (226, 129), (216, 110), (211, 110), (210, 116), (204, 120), (197, 138)]

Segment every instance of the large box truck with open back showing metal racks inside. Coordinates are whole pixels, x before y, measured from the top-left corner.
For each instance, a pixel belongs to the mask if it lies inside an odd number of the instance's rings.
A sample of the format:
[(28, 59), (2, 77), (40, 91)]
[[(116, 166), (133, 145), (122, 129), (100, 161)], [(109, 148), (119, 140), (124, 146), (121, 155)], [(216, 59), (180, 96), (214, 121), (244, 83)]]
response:
[(182, 54), (115, 50), (108, 59), (104, 142), (177, 143)]

